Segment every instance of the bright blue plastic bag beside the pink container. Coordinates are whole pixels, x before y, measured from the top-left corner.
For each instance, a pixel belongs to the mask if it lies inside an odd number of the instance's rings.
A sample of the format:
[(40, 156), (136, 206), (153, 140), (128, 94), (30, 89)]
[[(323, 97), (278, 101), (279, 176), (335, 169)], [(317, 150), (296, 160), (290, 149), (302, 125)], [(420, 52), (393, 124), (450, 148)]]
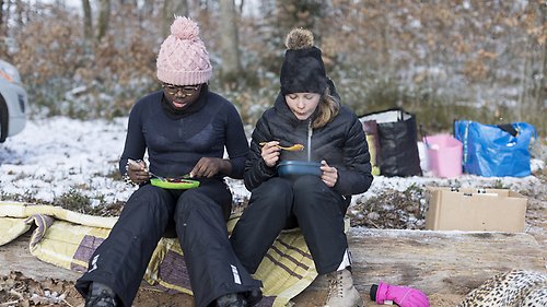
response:
[(464, 144), (464, 172), (485, 177), (531, 175), (529, 144), (537, 139), (533, 125), (484, 125), (454, 121), (454, 137)]

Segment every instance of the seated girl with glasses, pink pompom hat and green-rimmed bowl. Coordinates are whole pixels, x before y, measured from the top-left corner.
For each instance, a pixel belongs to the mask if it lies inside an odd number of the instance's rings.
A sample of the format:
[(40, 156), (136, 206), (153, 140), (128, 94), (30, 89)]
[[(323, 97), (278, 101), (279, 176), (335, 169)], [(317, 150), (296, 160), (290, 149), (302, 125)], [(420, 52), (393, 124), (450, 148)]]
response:
[[(121, 174), (139, 189), (75, 287), (86, 307), (131, 306), (158, 241), (175, 224), (195, 306), (256, 305), (261, 284), (235, 257), (226, 229), (232, 193), (224, 177), (243, 177), (243, 122), (232, 103), (209, 91), (212, 68), (194, 21), (175, 19), (156, 63), (163, 91), (131, 109), (119, 161)], [(147, 151), (150, 166), (142, 161)], [(149, 180), (187, 174), (199, 187), (165, 189)]]

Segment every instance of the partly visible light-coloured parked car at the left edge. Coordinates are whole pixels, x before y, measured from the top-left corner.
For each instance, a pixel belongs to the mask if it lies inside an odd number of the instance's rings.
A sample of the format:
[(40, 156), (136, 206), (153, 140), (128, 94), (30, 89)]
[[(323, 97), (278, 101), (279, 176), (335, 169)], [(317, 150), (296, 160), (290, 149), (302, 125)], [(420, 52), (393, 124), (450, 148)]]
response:
[(18, 69), (0, 60), (0, 143), (26, 125), (28, 99)]

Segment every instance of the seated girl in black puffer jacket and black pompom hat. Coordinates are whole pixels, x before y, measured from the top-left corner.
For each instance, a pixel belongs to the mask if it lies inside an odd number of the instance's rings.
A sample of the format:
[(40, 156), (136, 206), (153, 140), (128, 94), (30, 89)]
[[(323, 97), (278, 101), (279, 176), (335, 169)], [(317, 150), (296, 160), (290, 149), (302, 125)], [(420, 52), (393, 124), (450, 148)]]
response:
[[(372, 182), (370, 154), (361, 122), (340, 105), (313, 44), (306, 29), (287, 37), (281, 93), (253, 132), (244, 175), (252, 194), (231, 241), (254, 273), (279, 233), (300, 227), (317, 272), (329, 280), (326, 305), (363, 306), (351, 278), (344, 216), (351, 196)], [(298, 143), (303, 151), (279, 149)], [(283, 161), (321, 162), (321, 175), (280, 177), (276, 167)]]

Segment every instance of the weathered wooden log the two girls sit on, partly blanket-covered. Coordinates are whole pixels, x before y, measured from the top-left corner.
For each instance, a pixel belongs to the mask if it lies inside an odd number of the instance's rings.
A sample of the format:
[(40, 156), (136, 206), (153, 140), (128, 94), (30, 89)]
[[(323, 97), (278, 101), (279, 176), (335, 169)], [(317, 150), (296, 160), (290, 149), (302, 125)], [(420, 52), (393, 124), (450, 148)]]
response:
[[(487, 279), (511, 269), (546, 271), (546, 251), (529, 234), (351, 228), (348, 240), (356, 287), (370, 300), (373, 283), (384, 281), (423, 291), (437, 305), (439, 295), (459, 302)], [(75, 281), (81, 274), (40, 261), (28, 249), (30, 233), (0, 246), (0, 275), (21, 271), (37, 281)], [(326, 283), (312, 284), (294, 298), (296, 306), (322, 306)]]

